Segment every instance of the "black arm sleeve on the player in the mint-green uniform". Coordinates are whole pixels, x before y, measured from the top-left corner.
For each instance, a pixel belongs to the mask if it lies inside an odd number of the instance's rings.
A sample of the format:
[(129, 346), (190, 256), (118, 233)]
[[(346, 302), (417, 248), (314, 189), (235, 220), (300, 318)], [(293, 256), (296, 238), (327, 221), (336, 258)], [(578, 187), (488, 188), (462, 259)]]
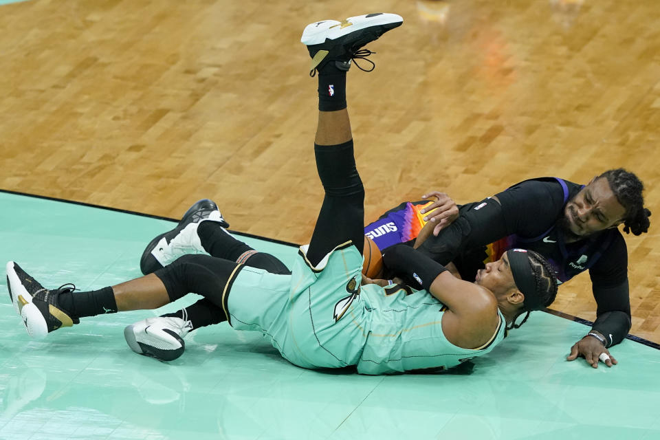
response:
[(439, 274), (447, 270), (440, 263), (402, 243), (385, 250), (383, 263), (388, 269), (401, 274), (408, 281), (415, 280), (426, 290)]

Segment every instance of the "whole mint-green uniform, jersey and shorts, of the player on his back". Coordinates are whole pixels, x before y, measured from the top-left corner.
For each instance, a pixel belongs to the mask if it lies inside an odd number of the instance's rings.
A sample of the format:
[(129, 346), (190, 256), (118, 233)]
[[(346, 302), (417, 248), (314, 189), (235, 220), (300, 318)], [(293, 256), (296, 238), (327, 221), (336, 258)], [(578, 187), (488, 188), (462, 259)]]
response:
[(505, 320), (479, 349), (442, 333), (445, 307), (426, 290), (360, 286), (362, 255), (351, 242), (316, 266), (300, 248), (291, 275), (241, 267), (223, 294), (230, 324), (261, 331), (289, 362), (305, 368), (355, 365), (358, 373), (449, 369), (484, 355), (504, 338)]

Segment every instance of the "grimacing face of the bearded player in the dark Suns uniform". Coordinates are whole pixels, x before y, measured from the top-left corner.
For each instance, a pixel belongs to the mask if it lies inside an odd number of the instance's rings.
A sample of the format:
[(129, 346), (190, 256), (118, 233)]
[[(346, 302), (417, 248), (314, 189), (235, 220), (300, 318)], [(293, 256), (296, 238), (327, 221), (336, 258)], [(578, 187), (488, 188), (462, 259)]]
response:
[(617, 201), (607, 179), (599, 178), (566, 203), (562, 227), (580, 238), (621, 224), (626, 209)]

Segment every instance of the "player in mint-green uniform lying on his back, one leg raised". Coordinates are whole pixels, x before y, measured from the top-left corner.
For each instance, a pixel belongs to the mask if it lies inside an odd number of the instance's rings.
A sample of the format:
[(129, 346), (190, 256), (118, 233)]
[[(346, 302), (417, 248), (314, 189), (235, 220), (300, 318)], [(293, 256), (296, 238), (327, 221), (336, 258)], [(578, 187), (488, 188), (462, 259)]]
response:
[[(556, 279), (547, 261), (523, 250), (507, 252), (480, 272), (475, 283), (468, 283), (406, 245), (393, 246), (384, 254), (386, 265), (423, 289), (361, 285), (364, 188), (353, 156), (346, 72), (354, 58), (369, 54), (362, 46), (401, 23), (395, 14), (368, 14), (342, 22), (319, 21), (303, 32), (313, 60), (311, 74), (318, 72), (314, 152), (325, 199), (311, 242), (300, 248), (290, 274), (187, 254), (142, 278), (74, 293), (66, 286), (44, 289), (10, 261), (10, 296), (28, 333), (43, 337), (85, 316), (155, 309), (194, 292), (221, 311), (234, 329), (261, 331), (293, 364), (352, 365), (359, 373), (382, 374), (447, 369), (488, 353), (503, 340), (507, 322), (549, 305)], [(190, 229), (206, 225), (241, 248), (223, 230), (226, 223), (217, 209), (199, 214), (188, 223)], [(175, 239), (166, 239), (162, 246), (175, 248), (176, 236), (186, 235), (186, 228), (175, 230)], [(246, 252), (246, 262), (256, 256)], [(164, 320), (172, 318), (150, 318), (127, 327), (131, 349), (161, 360), (181, 355), (184, 330), (170, 329), (162, 325)], [(173, 341), (179, 343), (174, 349)]]

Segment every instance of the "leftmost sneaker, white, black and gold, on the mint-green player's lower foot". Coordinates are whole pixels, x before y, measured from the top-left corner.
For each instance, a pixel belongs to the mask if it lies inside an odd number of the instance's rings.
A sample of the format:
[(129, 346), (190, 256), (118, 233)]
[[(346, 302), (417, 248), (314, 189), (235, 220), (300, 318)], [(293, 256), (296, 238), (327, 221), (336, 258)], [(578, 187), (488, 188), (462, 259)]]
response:
[(78, 318), (72, 317), (58, 303), (60, 294), (72, 292), (76, 286), (63, 285), (55, 290), (45, 289), (13, 261), (7, 263), (6, 270), (9, 296), (30, 336), (43, 338), (51, 331), (80, 323)]

